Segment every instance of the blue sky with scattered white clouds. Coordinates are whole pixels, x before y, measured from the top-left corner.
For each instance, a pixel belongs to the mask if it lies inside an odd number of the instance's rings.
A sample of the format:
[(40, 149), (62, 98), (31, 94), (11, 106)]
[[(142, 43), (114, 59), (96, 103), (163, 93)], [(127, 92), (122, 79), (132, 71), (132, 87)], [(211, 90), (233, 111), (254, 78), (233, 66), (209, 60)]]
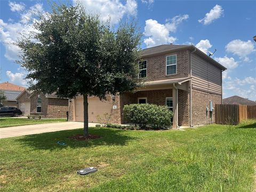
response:
[[(70, 0), (76, 4), (80, 0)], [(60, 3), (61, 1), (57, 1)], [(66, 1), (65, 1), (66, 2)], [(228, 68), (223, 72), (223, 98), (239, 95), (256, 100), (256, 1), (88, 0), (87, 12), (101, 20), (135, 18), (141, 48), (161, 44), (193, 44)], [(29, 33), (33, 13), (50, 12), (48, 1), (0, 1), (0, 82), (27, 86), (26, 70), (15, 60), (19, 48), (12, 43)]]

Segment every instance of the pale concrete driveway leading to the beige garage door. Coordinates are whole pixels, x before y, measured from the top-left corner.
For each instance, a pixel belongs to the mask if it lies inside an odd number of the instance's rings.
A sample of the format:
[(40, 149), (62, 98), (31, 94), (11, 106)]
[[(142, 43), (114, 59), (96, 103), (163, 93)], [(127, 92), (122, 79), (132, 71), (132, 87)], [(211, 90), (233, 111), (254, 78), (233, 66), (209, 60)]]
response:
[[(89, 123), (89, 127), (95, 126), (97, 123)], [(46, 133), (62, 130), (73, 130), (83, 128), (82, 122), (61, 122), (61, 123), (45, 123), (37, 125), (22, 125), (0, 128), (0, 139), (18, 137), (22, 135)]]

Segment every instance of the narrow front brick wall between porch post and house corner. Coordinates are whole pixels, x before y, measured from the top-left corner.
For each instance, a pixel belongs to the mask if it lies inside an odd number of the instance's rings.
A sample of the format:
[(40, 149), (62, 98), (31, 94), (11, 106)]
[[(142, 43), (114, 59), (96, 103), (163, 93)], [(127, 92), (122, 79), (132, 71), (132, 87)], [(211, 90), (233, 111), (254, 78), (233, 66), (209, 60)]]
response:
[(190, 106), (189, 91), (178, 90), (178, 125), (189, 126), (190, 122)]

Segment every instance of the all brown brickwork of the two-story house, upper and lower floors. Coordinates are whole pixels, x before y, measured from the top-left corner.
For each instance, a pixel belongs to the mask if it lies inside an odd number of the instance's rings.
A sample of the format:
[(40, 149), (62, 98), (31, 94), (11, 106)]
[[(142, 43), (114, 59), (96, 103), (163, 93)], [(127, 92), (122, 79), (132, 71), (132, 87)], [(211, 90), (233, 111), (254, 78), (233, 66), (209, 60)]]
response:
[[(173, 54), (177, 55), (177, 74), (166, 75), (166, 56)], [(151, 56), (143, 57), (142, 60), (147, 60), (147, 77), (145, 78), (145, 81), (190, 77), (190, 51), (187, 49), (181, 51), (170, 51), (164, 54), (154, 54)], [(204, 62), (206, 62), (205, 59), (203, 59), (200, 63), (204, 65)], [(212, 63), (210, 63), (209, 61), (207, 62), (207, 65), (212, 65)], [(200, 70), (200, 68), (198, 68), (198, 70)], [(205, 72), (202, 71), (202, 73)], [(199, 79), (198, 81), (200, 82), (201, 80)], [(170, 84), (170, 87), (171, 86), (172, 85)], [(210, 85), (210, 83), (208, 83), (207, 87), (209, 86), (213, 85)], [(178, 90), (178, 125), (190, 126), (190, 87), (184, 87), (185, 86), (180, 87), (180, 89)], [(169, 88), (169, 86), (167, 88)], [(122, 124), (126, 123), (123, 116), (123, 107), (131, 103), (138, 103), (138, 98), (140, 97), (146, 97), (148, 103), (154, 103), (156, 105), (166, 105), (166, 97), (173, 97), (172, 89), (165, 89), (165, 87), (164, 89), (161, 89), (161, 86), (156, 87), (156, 89), (159, 90), (137, 91), (129, 93), (125, 92), (122, 94), (117, 94), (115, 101), (113, 102), (113, 105), (116, 105), (117, 109), (111, 109), (111, 114), (113, 116), (111, 122)], [(212, 114), (209, 112), (206, 114), (206, 107), (209, 107), (209, 101), (213, 101), (213, 106), (215, 106), (216, 103), (221, 103), (221, 95), (210, 93), (209, 91), (199, 91), (196, 89), (192, 89), (191, 94), (193, 121), (192, 124), (201, 125), (214, 123), (214, 110)], [(71, 100), (71, 102), (69, 102), (68, 108), (69, 121), (72, 121), (74, 119), (74, 100)]]

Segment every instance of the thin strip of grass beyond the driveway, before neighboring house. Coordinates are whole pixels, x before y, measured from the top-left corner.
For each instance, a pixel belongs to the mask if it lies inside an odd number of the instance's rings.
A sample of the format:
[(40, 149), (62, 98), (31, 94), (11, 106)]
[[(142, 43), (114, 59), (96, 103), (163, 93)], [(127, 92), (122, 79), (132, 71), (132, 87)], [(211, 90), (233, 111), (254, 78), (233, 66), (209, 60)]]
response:
[(43, 123), (58, 123), (66, 122), (67, 119), (28, 119), (28, 118), (13, 118), (0, 117), (0, 128), (20, 125), (33, 125)]

